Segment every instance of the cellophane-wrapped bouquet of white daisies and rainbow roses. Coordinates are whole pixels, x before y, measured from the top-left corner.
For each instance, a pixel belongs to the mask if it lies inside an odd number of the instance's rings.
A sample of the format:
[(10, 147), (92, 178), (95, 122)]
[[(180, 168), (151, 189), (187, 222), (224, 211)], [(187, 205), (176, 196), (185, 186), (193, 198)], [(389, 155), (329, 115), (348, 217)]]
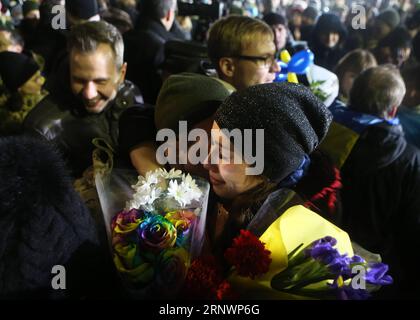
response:
[(133, 298), (175, 298), (204, 241), (206, 180), (179, 170), (95, 177), (114, 264)]

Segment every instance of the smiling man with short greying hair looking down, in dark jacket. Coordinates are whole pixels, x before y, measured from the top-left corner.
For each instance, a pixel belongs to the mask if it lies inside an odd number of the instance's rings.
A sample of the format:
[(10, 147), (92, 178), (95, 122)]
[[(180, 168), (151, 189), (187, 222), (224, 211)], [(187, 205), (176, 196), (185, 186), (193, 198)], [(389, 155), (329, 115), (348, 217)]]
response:
[(137, 88), (124, 80), (124, 45), (115, 27), (103, 21), (77, 25), (68, 47), (72, 97), (48, 95), (24, 127), (56, 143), (79, 176), (92, 164), (92, 139), (103, 138), (116, 148), (120, 114), (141, 101)]

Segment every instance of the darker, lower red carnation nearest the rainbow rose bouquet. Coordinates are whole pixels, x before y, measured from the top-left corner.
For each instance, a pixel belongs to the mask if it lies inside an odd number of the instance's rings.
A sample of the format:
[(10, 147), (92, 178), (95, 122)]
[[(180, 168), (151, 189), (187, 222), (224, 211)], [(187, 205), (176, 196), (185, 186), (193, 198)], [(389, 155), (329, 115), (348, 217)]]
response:
[(195, 259), (185, 279), (184, 295), (189, 299), (216, 299), (222, 282), (221, 270), (212, 256)]

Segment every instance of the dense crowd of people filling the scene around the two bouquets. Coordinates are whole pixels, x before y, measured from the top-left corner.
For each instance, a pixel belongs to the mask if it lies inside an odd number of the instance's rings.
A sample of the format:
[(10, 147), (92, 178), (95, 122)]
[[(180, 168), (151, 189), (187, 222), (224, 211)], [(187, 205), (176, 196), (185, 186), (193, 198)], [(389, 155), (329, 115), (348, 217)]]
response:
[[(145, 175), (164, 167), (156, 133), (180, 121), (265, 134), (259, 175), (208, 159), (226, 140), (245, 160), (224, 131), (203, 163), (172, 165), (211, 184), (205, 250), (222, 254), (267, 201), (278, 210), (257, 236), (302, 204), (389, 264), (378, 298), (420, 297), (420, 3), (222, 3), (204, 19), (176, 0), (1, 0), (0, 298), (122, 294), (85, 192), (92, 141)], [(304, 74), (276, 82), (282, 52), (306, 49), (337, 79), (328, 105)], [(69, 270), (63, 294), (54, 265)]]

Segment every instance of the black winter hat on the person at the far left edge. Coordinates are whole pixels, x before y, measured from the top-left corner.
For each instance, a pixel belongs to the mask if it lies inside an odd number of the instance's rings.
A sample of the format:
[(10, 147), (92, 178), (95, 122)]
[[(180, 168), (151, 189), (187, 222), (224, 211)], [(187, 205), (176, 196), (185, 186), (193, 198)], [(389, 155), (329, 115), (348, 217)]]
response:
[(16, 91), (37, 71), (36, 62), (23, 53), (0, 52), (0, 77), (10, 91)]

